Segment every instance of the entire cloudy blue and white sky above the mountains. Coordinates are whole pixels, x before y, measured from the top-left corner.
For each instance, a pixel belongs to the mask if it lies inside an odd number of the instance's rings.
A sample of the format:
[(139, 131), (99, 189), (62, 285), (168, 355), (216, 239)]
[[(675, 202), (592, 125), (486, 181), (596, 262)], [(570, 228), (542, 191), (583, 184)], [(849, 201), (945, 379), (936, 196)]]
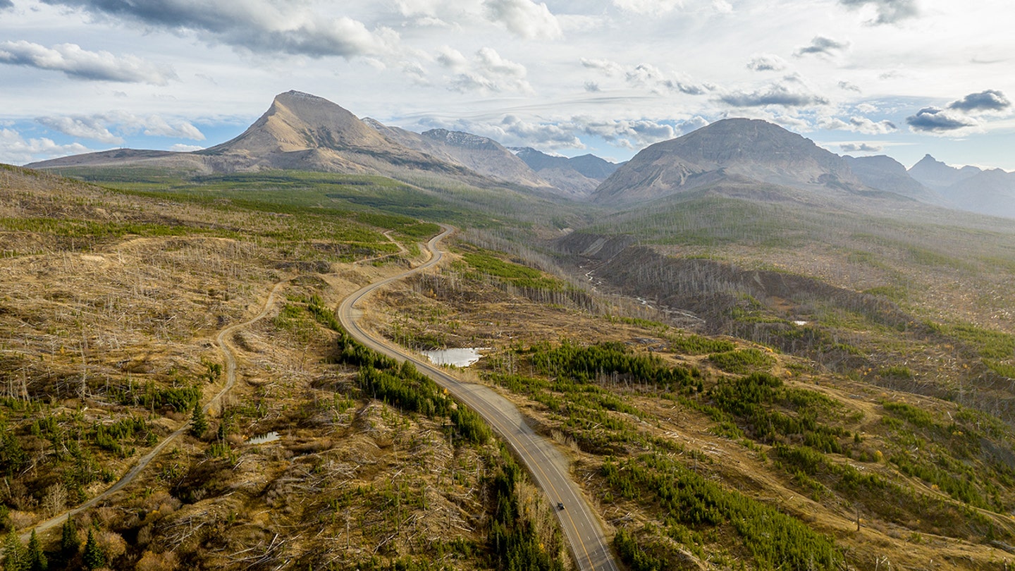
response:
[(1015, 171), (1011, 0), (0, 0), (0, 163), (196, 150), (283, 91), (625, 161), (730, 117)]

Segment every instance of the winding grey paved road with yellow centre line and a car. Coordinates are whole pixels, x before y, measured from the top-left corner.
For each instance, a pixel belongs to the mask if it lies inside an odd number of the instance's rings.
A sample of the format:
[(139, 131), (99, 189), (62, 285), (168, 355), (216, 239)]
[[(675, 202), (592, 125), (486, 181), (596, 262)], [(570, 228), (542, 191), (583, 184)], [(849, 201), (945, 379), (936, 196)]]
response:
[(338, 320), (359, 342), (399, 362), (411, 361), (419, 371), (481, 415), (521, 458), (535, 478), (536, 484), (546, 494), (549, 505), (556, 506), (557, 502), (563, 503), (564, 509), (557, 511), (556, 514), (579, 569), (618, 571), (619, 567), (607, 547), (603, 528), (582, 496), (581, 490), (568, 475), (566, 459), (553, 444), (529, 428), (514, 404), (489, 388), (462, 382), (448, 371), (434, 367), (421, 358), (402, 353), (395, 345), (371, 337), (359, 327), (356, 320), (359, 316), (356, 304), (361, 299), (378, 288), (431, 267), (441, 261), (443, 253), (437, 244), (454, 232), (451, 227), (445, 226), (444, 229), (441, 235), (427, 244), (431, 253), (429, 261), (405, 273), (371, 283), (355, 292), (339, 306)]

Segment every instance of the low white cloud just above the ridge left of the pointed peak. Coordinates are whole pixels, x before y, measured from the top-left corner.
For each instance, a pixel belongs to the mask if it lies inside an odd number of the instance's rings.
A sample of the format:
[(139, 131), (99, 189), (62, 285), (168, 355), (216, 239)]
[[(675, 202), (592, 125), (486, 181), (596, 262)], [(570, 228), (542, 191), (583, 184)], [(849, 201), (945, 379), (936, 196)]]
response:
[(124, 111), (92, 116), (40, 117), (36, 121), (65, 135), (109, 144), (120, 144), (124, 142), (124, 135), (137, 133), (195, 141), (205, 138), (204, 133), (188, 121), (171, 123), (158, 115), (138, 117)]

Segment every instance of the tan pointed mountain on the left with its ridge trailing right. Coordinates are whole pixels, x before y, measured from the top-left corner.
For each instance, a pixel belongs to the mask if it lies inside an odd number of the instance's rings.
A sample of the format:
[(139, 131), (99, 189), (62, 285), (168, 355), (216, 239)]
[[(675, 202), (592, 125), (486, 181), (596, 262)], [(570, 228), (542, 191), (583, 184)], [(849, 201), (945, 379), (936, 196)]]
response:
[(286, 91), (238, 137), (195, 152), (118, 149), (65, 156), (32, 168), (145, 166), (198, 173), (273, 169), (379, 174), (392, 177), (429, 173), (467, 184), (503, 183), (556, 193), (499, 143), (469, 133), (434, 130), (424, 134), (360, 120), (317, 96)]

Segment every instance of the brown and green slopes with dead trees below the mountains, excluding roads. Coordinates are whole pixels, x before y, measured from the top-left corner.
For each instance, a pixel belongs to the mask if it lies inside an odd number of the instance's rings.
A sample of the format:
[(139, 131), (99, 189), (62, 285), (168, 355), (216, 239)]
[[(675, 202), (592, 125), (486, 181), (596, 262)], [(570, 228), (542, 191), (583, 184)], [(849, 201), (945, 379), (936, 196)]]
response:
[[(550, 569), (566, 559), (552, 506), (510, 455), (468, 436), (481, 431), (455, 429), (471, 425), (412, 370), (370, 361), (334, 329), (330, 311), (347, 293), (422, 259), (418, 243), (436, 227), (420, 215), (472, 230), (438, 271), (374, 299), (362, 322), (416, 350), (486, 347), (462, 375), (558, 443), (631, 568), (923, 569), (935, 559), (971, 570), (1015, 544), (1015, 435), (969, 388), (1008, 402), (991, 376), (1001, 373), (986, 368), (1013, 365), (993, 353), (1010, 336), (990, 332), (1011, 316), (970, 327), (991, 304), (956, 305), (961, 292), (947, 287), (962, 274), (976, 291), (992, 283), (997, 307), (1010, 303), (1010, 231), (990, 219), (959, 220), (990, 237), (959, 255), (950, 248), (965, 226), (926, 224), (938, 237), (929, 249), (898, 220), (843, 223), (841, 212), (705, 194), (602, 218), (599, 234), (559, 243), (600, 264), (581, 269), (590, 287), (505, 240), (531, 243), (525, 225), (378, 177), (122, 179), (135, 186), (121, 192), (0, 174), (0, 332), (16, 350), (3, 354), (0, 401), (5, 525), (25, 530), (100, 493), (197, 419), (193, 403), (223, 382), (222, 352), (238, 361), (236, 386), (205, 430), (76, 515), (75, 551), (44, 537), (51, 561), (83, 557), (88, 529), (124, 568), (439, 560), (471, 570), (519, 557)], [(679, 257), (685, 266), (667, 273)], [(797, 262), (796, 273), (759, 260)], [(664, 311), (698, 295), (693, 287), (716, 296)], [(606, 292), (625, 288), (629, 297)], [(721, 327), (737, 336), (715, 335)], [(926, 390), (939, 386), (931, 379), (966, 388), (956, 398)], [(272, 431), (279, 440), (251, 440)]]

